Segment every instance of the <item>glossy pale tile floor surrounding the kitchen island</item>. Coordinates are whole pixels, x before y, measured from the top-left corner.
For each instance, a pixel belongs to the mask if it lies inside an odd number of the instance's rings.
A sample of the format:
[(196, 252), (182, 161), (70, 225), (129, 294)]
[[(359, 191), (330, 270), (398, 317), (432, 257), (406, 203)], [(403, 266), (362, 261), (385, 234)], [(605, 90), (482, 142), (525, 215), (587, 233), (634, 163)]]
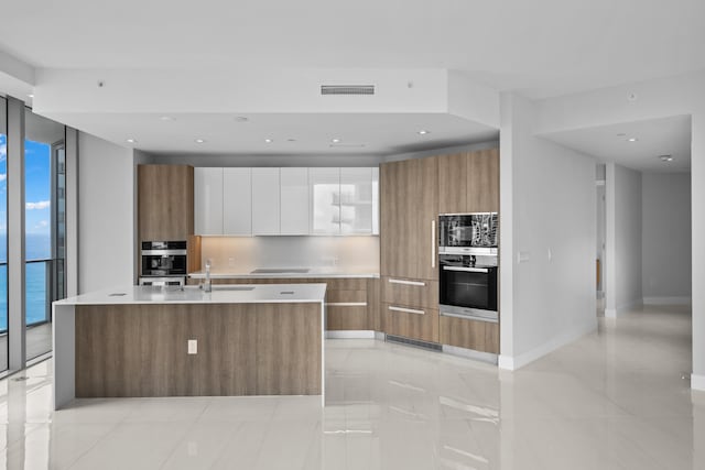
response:
[[(10, 469), (705, 469), (686, 309), (600, 318), (518, 372), (373, 340), (326, 346), (317, 397), (84, 400), (51, 364), (0, 382)], [(3, 466), (0, 464), (0, 468)]]

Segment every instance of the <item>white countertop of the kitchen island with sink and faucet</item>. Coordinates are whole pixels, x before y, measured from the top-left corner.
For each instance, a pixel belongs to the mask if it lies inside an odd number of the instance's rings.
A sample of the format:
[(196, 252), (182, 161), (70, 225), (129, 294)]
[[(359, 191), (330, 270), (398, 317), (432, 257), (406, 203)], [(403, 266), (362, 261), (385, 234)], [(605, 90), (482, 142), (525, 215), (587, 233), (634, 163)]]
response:
[[(251, 289), (242, 289), (252, 287)], [(91, 292), (56, 300), (56, 305), (120, 305), (120, 304), (267, 304), (323, 302), (325, 284), (238, 284), (214, 285), (213, 292), (198, 286), (183, 291), (169, 287), (127, 286)]]

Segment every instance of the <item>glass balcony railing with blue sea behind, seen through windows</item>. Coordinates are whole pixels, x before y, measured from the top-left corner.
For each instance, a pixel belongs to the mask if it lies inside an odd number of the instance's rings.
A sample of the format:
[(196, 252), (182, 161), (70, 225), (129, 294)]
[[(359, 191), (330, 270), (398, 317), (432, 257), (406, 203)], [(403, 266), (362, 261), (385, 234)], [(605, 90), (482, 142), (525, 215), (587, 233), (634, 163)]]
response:
[[(25, 311), (26, 326), (45, 324), (52, 314), (52, 266), (54, 260), (26, 262)], [(0, 263), (0, 335), (8, 332), (8, 263)]]

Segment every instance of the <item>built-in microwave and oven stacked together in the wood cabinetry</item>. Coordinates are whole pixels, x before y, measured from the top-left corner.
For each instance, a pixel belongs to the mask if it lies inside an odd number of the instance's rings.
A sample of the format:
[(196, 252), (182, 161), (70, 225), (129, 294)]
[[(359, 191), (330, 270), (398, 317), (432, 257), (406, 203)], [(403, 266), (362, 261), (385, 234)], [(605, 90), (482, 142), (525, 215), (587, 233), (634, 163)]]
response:
[(497, 313), (497, 212), (438, 218), (441, 315), (482, 321)]

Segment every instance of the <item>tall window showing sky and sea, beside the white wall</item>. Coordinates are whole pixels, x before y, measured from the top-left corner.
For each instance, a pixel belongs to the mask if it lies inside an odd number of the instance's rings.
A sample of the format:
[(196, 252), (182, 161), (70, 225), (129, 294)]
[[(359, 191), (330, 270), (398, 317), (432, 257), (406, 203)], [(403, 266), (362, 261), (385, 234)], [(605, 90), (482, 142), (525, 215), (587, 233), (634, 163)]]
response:
[[(64, 125), (25, 111), (26, 359), (52, 350), (52, 300), (65, 295), (63, 273)], [(59, 173), (61, 172), (61, 173)], [(59, 177), (61, 176), (61, 177)], [(61, 182), (59, 182), (61, 179)], [(59, 210), (56, 210), (59, 209)], [(63, 223), (63, 220), (61, 220)], [(61, 243), (61, 247), (58, 245)]]

